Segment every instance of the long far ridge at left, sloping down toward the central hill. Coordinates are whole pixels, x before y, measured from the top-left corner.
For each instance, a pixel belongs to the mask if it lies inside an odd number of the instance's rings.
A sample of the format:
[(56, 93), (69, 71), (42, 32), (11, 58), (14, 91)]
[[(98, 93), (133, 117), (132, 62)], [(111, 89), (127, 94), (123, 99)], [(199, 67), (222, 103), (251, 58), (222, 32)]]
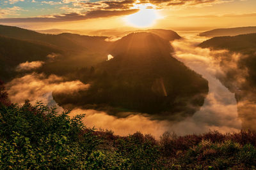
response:
[[(105, 50), (109, 42), (104, 36), (80, 36), (79, 34), (41, 34), (39, 32), (0, 25), (0, 35), (29, 41), (40, 41), (46, 45), (55, 45), (63, 50)], [(101, 46), (101, 48), (98, 48)]]

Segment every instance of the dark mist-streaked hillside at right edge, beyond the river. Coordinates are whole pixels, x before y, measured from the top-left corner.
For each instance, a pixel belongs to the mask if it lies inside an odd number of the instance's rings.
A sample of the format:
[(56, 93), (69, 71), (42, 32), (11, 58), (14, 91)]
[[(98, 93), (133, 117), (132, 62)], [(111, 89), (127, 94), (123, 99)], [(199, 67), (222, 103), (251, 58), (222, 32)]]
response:
[[(230, 53), (216, 56), (224, 75), (221, 82), (236, 94), (239, 117), (243, 129), (256, 131), (256, 33), (239, 36), (216, 37), (204, 41), (199, 46), (214, 50), (225, 49)], [(239, 57), (232, 55), (240, 53)]]

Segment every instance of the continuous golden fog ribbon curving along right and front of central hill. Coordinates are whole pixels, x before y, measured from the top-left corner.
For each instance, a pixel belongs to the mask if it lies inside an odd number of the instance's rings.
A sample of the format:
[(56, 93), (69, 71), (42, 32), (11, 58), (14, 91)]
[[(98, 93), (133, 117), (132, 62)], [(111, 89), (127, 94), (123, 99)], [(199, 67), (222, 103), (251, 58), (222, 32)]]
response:
[[(227, 50), (210, 50), (208, 48), (196, 47), (198, 43), (205, 40), (202, 37), (191, 36), (189, 38), (176, 40), (172, 43), (175, 48), (173, 57), (180, 61), (196, 73), (209, 81), (209, 94), (205, 99), (204, 106), (193, 115), (180, 122), (169, 120), (152, 120), (148, 115), (138, 113), (128, 117), (115, 117), (103, 111), (83, 110), (75, 108), (72, 115), (86, 113), (84, 124), (88, 127), (113, 130), (115, 134), (127, 135), (136, 131), (144, 134), (152, 134), (159, 138), (163, 132), (175, 132), (179, 135), (200, 134), (204, 132), (220, 131), (239, 132), (242, 127), (241, 117), (237, 113), (237, 102), (234, 93), (230, 92), (216, 78), (217, 75), (225, 74), (220, 66), (220, 57), (231, 57), (234, 60), (230, 68), (236, 69), (236, 60), (242, 57), (239, 54), (232, 54)], [(125, 113), (122, 113), (125, 115)], [(167, 119), (167, 118), (166, 118)]]

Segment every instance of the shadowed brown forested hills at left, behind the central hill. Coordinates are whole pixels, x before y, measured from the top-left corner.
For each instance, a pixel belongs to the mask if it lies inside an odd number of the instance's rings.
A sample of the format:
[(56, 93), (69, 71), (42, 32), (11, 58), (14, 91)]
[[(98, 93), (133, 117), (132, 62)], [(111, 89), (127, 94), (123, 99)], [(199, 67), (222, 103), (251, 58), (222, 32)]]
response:
[[(0, 75), (4, 81), (17, 75), (15, 67), (22, 62), (45, 61), (38, 71), (65, 75), (77, 68), (93, 66), (106, 60), (110, 42), (107, 37), (63, 33), (40, 34), (35, 31), (0, 25)], [(58, 57), (56, 57), (58, 56)]]

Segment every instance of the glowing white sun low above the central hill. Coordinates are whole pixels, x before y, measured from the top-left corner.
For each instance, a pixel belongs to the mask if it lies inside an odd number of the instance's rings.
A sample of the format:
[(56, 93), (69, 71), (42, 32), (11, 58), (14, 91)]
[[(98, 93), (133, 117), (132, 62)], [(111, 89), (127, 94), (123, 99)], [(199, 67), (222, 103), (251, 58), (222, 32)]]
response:
[(148, 8), (147, 6), (139, 6), (140, 11), (125, 17), (127, 24), (133, 27), (150, 27), (160, 18), (157, 10)]

